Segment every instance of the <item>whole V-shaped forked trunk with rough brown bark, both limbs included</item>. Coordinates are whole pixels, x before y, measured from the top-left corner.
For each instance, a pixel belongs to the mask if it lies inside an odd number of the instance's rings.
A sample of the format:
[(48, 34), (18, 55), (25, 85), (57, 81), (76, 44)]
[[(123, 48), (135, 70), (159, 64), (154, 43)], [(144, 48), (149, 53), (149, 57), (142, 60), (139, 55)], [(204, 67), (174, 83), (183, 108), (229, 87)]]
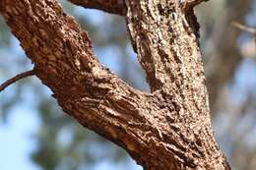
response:
[(2, 0), (0, 11), (63, 110), (145, 169), (229, 169), (211, 127), (192, 9), (200, 2), (125, 1), (151, 93), (103, 68), (86, 31), (55, 0)]

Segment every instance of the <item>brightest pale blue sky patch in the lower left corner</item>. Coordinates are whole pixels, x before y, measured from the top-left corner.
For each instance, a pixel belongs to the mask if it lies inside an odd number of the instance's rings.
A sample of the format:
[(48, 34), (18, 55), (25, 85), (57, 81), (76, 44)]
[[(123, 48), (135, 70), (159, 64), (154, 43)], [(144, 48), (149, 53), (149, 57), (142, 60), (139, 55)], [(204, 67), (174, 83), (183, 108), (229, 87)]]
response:
[(38, 118), (31, 109), (22, 105), (12, 109), (7, 123), (0, 124), (0, 166), (2, 170), (39, 170), (30, 158), (32, 148), (35, 146), (30, 136), (36, 132), (37, 128)]

